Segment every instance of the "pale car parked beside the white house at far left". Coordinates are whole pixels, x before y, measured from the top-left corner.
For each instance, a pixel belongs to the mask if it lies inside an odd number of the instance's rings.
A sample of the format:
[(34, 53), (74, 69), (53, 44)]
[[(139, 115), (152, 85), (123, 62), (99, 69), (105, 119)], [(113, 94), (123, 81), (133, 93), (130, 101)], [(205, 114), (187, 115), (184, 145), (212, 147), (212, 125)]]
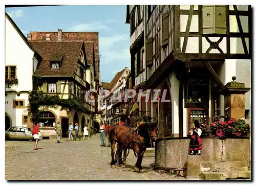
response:
[(5, 139), (33, 140), (32, 131), (27, 127), (12, 126), (5, 132)]

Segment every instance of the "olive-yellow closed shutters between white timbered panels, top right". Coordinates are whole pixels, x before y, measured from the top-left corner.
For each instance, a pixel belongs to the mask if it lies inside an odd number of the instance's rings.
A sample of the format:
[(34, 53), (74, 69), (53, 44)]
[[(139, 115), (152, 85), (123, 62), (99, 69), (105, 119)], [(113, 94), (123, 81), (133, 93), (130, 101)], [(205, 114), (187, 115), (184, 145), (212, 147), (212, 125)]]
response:
[(203, 35), (227, 34), (226, 5), (202, 5)]

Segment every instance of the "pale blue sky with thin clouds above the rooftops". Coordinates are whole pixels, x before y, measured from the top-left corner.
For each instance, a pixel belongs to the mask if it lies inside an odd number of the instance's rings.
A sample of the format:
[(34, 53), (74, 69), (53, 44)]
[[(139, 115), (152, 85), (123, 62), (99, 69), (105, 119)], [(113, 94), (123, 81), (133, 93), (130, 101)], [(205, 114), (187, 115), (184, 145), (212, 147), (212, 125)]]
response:
[(6, 8), (23, 34), (31, 31), (99, 32), (101, 81), (110, 82), (117, 72), (130, 67), (130, 25), (126, 6), (46, 6)]

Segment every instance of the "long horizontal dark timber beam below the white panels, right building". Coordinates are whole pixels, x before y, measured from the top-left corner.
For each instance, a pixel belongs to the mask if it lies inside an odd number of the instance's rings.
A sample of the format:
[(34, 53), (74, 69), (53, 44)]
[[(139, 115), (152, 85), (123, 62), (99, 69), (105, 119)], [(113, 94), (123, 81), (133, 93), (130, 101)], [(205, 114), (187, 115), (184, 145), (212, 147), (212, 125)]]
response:
[(197, 59), (199, 60), (220, 60), (220, 59), (251, 59), (249, 54), (198, 54), (198, 53), (175, 53), (175, 59)]

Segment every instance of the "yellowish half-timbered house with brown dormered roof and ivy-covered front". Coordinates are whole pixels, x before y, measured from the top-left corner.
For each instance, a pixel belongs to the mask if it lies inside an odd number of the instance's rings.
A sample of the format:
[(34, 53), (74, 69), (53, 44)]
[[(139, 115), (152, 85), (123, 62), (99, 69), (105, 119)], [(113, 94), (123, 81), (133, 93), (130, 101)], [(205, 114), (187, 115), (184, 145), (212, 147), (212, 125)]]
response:
[[(30, 41), (32, 48), (42, 57), (34, 73), (35, 78), (45, 81), (39, 90), (44, 94), (58, 95), (60, 99), (80, 98), (86, 112), (72, 109), (42, 109), (39, 115), (39, 126), (43, 136), (55, 134), (54, 126), (61, 123), (62, 134), (67, 133), (68, 125), (78, 123), (81, 134), (85, 124), (92, 125), (92, 113), (95, 105), (86, 102), (85, 94), (93, 86), (93, 53), (89, 54), (83, 41)], [(47, 105), (47, 102), (46, 102)]]

